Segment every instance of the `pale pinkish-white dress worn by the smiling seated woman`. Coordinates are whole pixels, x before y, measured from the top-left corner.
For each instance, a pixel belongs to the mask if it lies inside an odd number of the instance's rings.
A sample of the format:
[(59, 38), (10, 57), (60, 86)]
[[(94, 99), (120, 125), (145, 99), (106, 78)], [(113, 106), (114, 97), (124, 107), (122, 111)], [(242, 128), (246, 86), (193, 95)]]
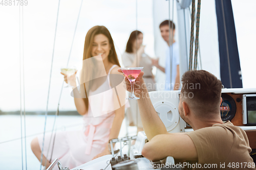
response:
[[(116, 66), (113, 65), (111, 67), (108, 78), (111, 70)], [(106, 79), (95, 91), (91, 91), (90, 96), (99, 94), (100, 88), (103, 86), (110, 87), (109, 79)], [(84, 127), (82, 130), (56, 133), (53, 154), (54, 135), (52, 136), (51, 142), (51, 133), (45, 135), (43, 154), (47, 157), (47, 160), (51, 159), (52, 154), (51, 162), (55, 158), (58, 158), (63, 167), (69, 167), (71, 169), (92, 160), (93, 157), (104, 151), (106, 144), (109, 142), (110, 130), (115, 117), (115, 111), (112, 111), (114, 106), (111, 100), (114, 94), (100, 94), (102, 95), (95, 95), (97, 99), (94, 96), (93, 100), (90, 100), (89, 96), (89, 109), (88, 113), (83, 115)], [(97, 111), (104, 113), (101, 116), (95, 117), (92, 108), (97, 108)], [(42, 150), (43, 135), (39, 135), (37, 138), (40, 149)]]

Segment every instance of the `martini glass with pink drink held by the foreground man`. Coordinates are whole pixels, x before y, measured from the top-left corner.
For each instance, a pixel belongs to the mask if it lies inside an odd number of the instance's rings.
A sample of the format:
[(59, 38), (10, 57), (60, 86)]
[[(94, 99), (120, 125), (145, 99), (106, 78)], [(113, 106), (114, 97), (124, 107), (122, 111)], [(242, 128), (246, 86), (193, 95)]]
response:
[(142, 70), (143, 67), (126, 67), (126, 68), (121, 68), (123, 74), (127, 77), (127, 79), (130, 81), (131, 86), (132, 86), (132, 94), (129, 98), (129, 100), (136, 100), (136, 99), (140, 99), (137, 98), (134, 95), (134, 82), (136, 80), (136, 78), (138, 77), (138, 75), (140, 74), (140, 71)]

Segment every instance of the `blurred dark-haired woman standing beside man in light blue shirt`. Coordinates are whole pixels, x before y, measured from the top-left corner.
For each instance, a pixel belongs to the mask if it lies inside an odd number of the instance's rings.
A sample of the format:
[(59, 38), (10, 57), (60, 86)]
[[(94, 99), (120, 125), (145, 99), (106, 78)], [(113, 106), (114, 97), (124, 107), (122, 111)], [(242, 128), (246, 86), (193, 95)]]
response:
[[(137, 38), (136, 38), (137, 37)], [(148, 91), (155, 91), (155, 80), (152, 74), (151, 57), (144, 53), (143, 34), (140, 31), (133, 31), (127, 41), (125, 52), (122, 55), (124, 67), (144, 67), (144, 81)], [(130, 100), (131, 107), (126, 113), (129, 118), (130, 126), (137, 126), (138, 131), (142, 131), (138, 104), (136, 100)]]

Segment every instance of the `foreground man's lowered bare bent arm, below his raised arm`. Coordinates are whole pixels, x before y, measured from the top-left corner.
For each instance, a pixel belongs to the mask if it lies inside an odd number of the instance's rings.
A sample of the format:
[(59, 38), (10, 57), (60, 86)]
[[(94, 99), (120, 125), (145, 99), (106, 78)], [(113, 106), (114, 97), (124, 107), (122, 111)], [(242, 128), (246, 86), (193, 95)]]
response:
[(167, 156), (183, 160), (198, 159), (195, 144), (185, 133), (157, 135), (144, 145), (141, 153), (149, 160), (162, 160)]

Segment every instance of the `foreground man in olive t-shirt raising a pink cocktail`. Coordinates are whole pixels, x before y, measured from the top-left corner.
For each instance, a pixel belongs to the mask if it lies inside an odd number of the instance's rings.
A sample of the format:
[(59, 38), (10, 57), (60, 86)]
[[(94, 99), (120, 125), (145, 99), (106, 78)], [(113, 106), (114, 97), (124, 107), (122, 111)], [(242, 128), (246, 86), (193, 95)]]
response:
[[(179, 114), (194, 129), (188, 133), (166, 131), (148, 96), (142, 76), (143, 71), (135, 81), (134, 93), (140, 98), (140, 116), (149, 140), (142, 150), (145, 158), (161, 160), (172, 156), (200, 164), (193, 169), (205, 169), (207, 166), (210, 169), (255, 169), (246, 133), (229, 121), (222, 122), (222, 83), (214, 75), (205, 70), (191, 70), (182, 76)], [(131, 91), (126, 77), (124, 83), (126, 89)], [(195, 88), (198, 84), (199, 88)]]

